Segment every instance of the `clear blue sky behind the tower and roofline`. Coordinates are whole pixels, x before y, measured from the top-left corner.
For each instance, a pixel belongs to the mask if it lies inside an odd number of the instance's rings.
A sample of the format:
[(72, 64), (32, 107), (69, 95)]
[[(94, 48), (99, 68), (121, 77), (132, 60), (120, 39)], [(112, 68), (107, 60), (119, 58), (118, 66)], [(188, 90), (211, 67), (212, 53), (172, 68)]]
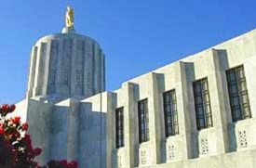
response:
[(61, 32), (69, 4), (106, 54), (107, 90), (256, 28), (255, 0), (2, 0), (0, 103), (25, 97), (30, 50)]

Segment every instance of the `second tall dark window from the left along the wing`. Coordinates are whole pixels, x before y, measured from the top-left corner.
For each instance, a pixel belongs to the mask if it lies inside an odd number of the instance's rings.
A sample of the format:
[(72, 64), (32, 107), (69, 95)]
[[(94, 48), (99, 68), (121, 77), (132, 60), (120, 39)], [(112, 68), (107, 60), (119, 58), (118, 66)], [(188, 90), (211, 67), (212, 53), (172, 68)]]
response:
[(149, 140), (149, 119), (148, 119), (147, 99), (139, 101), (138, 116), (139, 116), (139, 140), (140, 140), (140, 143), (146, 142)]

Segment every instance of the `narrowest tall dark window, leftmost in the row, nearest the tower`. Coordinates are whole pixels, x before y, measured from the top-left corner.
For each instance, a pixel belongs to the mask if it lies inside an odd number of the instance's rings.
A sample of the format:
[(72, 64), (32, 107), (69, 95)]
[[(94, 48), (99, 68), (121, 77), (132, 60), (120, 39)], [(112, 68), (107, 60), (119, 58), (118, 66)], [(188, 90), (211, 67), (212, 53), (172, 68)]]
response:
[(115, 110), (115, 139), (117, 149), (124, 147), (124, 108)]

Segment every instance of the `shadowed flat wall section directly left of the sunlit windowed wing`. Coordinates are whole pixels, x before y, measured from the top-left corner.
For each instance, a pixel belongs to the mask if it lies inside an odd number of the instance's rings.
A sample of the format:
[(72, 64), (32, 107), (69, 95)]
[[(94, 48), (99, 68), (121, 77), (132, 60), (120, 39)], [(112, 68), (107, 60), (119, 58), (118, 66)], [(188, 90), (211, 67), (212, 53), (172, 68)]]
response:
[[(79, 166), (106, 167), (107, 124), (106, 111), (92, 110), (90, 103), (80, 103), (79, 114)], [(99, 104), (99, 109), (100, 104)]]

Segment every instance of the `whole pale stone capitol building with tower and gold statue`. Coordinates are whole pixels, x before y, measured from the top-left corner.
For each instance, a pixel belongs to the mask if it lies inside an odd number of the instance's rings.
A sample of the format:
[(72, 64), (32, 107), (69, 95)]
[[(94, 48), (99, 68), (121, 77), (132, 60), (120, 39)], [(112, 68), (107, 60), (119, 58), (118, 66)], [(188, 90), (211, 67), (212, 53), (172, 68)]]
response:
[(105, 91), (107, 56), (68, 12), (61, 33), (34, 44), (16, 105), (40, 163), (256, 168), (256, 30)]

